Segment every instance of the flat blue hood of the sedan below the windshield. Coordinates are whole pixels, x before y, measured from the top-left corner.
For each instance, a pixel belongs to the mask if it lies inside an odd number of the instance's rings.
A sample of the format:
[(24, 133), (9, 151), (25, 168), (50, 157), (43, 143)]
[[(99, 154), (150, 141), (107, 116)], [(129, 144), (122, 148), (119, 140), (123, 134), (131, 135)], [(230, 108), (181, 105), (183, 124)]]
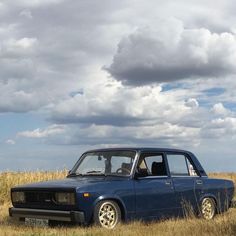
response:
[(70, 177), (62, 180), (44, 181), (31, 184), (20, 185), (12, 189), (71, 189), (81, 188), (89, 185), (97, 185), (98, 183), (111, 182), (114, 180), (125, 180), (123, 177), (113, 176), (87, 176), (87, 177)]

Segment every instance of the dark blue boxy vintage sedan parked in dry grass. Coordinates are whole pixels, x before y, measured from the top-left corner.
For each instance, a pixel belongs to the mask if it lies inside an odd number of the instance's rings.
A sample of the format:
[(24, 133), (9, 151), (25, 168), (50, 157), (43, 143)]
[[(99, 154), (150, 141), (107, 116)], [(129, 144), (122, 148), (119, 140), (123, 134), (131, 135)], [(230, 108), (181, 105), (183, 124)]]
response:
[(26, 222), (95, 223), (183, 216), (205, 219), (228, 210), (230, 180), (207, 177), (191, 152), (113, 148), (85, 152), (64, 180), (11, 189), (9, 214)]

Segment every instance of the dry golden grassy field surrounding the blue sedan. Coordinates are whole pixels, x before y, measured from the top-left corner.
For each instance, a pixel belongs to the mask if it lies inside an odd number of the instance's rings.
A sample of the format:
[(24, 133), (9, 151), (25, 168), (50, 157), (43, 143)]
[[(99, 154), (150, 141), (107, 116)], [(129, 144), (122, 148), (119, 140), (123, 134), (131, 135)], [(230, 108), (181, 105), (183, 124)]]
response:
[[(132, 222), (121, 224), (114, 230), (99, 227), (28, 227), (8, 217), (10, 206), (9, 189), (12, 186), (50, 179), (61, 179), (67, 171), (0, 174), (0, 235), (236, 235), (236, 208), (206, 221), (198, 218), (170, 219), (152, 223)], [(213, 173), (211, 177), (231, 179), (236, 183), (234, 173)]]

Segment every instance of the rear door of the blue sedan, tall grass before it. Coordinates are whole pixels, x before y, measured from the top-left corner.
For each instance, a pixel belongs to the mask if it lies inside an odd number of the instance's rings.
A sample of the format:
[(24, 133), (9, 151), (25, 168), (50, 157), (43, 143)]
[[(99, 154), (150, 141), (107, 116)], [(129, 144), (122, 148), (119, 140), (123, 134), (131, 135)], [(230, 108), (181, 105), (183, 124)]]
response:
[(167, 153), (166, 157), (179, 215), (192, 214), (198, 207), (196, 191), (200, 191), (202, 183), (194, 163), (184, 153)]

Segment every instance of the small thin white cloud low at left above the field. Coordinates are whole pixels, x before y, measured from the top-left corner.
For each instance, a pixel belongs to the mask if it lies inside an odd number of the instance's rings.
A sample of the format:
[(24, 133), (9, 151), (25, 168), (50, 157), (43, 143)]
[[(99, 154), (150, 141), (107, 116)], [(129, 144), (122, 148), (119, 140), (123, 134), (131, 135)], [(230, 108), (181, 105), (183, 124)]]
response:
[(26, 138), (47, 138), (50, 136), (62, 134), (65, 132), (65, 126), (63, 125), (51, 125), (45, 129), (37, 128), (35, 130), (27, 130), (17, 133), (18, 137), (26, 137)]

